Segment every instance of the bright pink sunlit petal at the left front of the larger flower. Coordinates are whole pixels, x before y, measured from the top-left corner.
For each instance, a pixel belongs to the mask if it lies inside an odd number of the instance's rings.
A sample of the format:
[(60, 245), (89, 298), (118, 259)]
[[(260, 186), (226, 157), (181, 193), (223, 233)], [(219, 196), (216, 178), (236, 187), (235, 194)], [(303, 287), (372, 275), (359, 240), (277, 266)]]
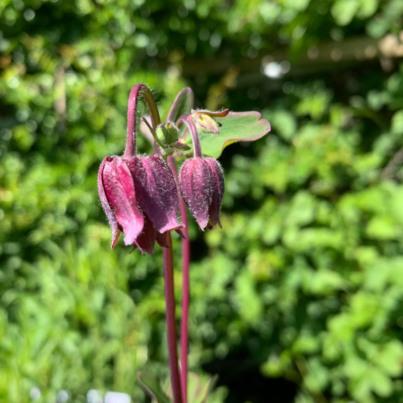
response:
[(104, 164), (102, 183), (108, 204), (125, 235), (124, 244), (130, 245), (142, 232), (144, 218), (137, 207), (135, 186), (123, 158), (115, 157)]

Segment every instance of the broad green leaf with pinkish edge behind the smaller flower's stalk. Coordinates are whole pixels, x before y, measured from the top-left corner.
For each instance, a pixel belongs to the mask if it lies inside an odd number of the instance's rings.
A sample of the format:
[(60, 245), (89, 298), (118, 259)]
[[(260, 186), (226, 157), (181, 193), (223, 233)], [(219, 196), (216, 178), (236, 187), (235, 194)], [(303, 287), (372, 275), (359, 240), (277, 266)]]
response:
[[(258, 112), (230, 112), (215, 120), (222, 124), (218, 135), (199, 133), (201, 151), (213, 158), (220, 157), (224, 148), (236, 142), (253, 142), (270, 131), (270, 123), (260, 118)], [(192, 139), (187, 129), (174, 149), (183, 155), (193, 152)]]

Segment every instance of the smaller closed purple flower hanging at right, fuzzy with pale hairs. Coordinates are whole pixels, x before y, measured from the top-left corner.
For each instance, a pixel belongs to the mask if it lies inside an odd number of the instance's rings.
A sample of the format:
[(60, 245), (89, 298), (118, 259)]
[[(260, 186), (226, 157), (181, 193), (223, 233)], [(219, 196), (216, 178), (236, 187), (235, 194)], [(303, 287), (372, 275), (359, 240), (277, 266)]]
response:
[(180, 171), (183, 199), (201, 230), (220, 224), (219, 213), (224, 196), (224, 176), (219, 163), (211, 157), (193, 157)]

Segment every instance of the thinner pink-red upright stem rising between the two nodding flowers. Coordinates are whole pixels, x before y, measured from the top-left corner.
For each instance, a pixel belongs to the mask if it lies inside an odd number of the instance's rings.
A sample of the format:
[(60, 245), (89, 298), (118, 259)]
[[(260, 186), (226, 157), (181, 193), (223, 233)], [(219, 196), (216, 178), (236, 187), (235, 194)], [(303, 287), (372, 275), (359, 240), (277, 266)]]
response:
[(176, 186), (178, 188), (179, 209), (180, 216), (183, 224), (183, 234), (185, 239), (182, 238), (182, 317), (180, 320), (180, 380), (182, 386), (183, 402), (187, 403), (187, 354), (189, 346), (189, 330), (188, 330), (188, 317), (190, 305), (190, 282), (189, 282), (189, 265), (190, 265), (190, 241), (189, 230), (187, 223), (187, 211), (185, 202), (180, 196), (179, 178), (176, 170), (175, 161), (172, 156), (168, 156), (167, 162), (171, 168)]

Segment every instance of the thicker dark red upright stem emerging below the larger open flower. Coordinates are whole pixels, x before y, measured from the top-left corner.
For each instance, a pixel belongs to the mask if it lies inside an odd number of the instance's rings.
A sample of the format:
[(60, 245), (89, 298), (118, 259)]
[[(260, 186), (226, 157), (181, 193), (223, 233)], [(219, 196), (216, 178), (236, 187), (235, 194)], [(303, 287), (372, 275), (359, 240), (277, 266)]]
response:
[(164, 256), (164, 282), (166, 300), (166, 321), (168, 339), (168, 358), (171, 370), (173, 399), (175, 403), (182, 403), (182, 393), (179, 380), (177, 335), (175, 321), (175, 295), (173, 284), (173, 254), (171, 233), (167, 233), (168, 247), (162, 249)]

